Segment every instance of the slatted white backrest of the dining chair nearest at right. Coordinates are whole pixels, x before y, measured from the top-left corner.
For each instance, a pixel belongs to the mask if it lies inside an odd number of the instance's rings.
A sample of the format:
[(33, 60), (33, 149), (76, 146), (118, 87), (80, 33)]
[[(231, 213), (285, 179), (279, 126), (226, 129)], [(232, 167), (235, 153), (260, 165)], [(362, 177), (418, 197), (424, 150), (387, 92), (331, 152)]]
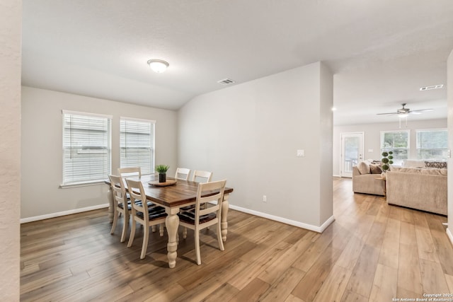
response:
[[(197, 201), (195, 202), (195, 226), (200, 224), (200, 216), (216, 213), (217, 219), (222, 211), (226, 180), (200, 183), (197, 190)], [(216, 192), (215, 194), (210, 194)], [(203, 195), (209, 196), (203, 197)], [(210, 202), (209, 206), (201, 207), (202, 204)], [(214, 202), (215, 205), (212, 204)]]

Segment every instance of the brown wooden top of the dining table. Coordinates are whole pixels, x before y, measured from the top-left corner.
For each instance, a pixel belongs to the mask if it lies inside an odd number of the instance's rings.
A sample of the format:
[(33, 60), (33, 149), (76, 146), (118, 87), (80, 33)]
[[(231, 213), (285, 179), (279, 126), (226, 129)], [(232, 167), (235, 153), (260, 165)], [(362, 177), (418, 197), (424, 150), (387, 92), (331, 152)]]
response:
[[(150, 181), (158, 179), (157, 175), (142, 175), (140, 180), (143, 184), (143, 189), (147, 195), (147, 199), (151, 202), (156, 202), (164, 207), (180, 207), (188, 204), (195, 204), (197, 199), (197, 190), (199, 182), (190, 180), (176, 180), (176, 184), (168, 186), (149, 185)], [(132, 180), (138, 180), (137, 177), (131, 177)], [(167, 180), (175, 180), (174, 178), (167, 178)], [(125, 182), (127, 188), (127, 183)], [(214, 195), (219, 191), (207, 192), (203, 196)], [(225, 187), (224, 194), (230, 194), (233, 188)]]

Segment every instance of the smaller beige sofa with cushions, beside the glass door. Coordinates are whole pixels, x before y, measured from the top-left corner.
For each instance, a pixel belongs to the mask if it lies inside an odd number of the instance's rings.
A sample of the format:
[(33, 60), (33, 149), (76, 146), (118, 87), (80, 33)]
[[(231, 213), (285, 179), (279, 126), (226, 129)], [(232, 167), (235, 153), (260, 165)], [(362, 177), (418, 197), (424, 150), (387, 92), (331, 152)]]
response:
[(361, 161), (352, 167), (352, 191), (385, 196), (385, 181), (381, 179), (381, 163)]

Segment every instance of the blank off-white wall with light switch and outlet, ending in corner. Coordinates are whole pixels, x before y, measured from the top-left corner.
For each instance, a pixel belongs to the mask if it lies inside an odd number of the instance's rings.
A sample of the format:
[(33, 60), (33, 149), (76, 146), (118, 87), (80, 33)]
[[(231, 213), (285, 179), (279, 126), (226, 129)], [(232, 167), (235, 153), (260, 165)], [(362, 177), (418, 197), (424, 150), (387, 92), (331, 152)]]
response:
[(319, 62), (199, 95), (179, 111), (178, 163), (226, 179), (235, 207), (319, 227), (332, 218), (331, 106)]

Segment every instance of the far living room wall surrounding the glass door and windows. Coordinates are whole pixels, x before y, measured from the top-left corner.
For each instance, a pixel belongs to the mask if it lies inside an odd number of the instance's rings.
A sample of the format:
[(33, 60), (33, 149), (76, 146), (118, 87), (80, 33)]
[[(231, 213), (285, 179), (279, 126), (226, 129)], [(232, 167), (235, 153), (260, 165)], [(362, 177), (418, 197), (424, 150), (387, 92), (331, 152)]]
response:
[[(363, 158), (380, 160), (382, 158), (380, 151), (381, 131), (411, 130), (409, 137), (409, 144), (411, 145), (410, 158), (417, 158), (417, 151), (415, 148), (415, 130), (435, 128), (447, 128), (447, 119), (415, 121), (411, 120), (411, 117), (408, 117), (407, 127), (401, 126), (401, 129), (399, 128), (398, 117), (395, 117), (395, 122), (390, 123), (354, 124), (333, 127), (333, 175), (340, 175), (341, 133), (365, 132), (365, 153)], [(369, 149), (372, 149), (373, 151), (369, 152)]]

